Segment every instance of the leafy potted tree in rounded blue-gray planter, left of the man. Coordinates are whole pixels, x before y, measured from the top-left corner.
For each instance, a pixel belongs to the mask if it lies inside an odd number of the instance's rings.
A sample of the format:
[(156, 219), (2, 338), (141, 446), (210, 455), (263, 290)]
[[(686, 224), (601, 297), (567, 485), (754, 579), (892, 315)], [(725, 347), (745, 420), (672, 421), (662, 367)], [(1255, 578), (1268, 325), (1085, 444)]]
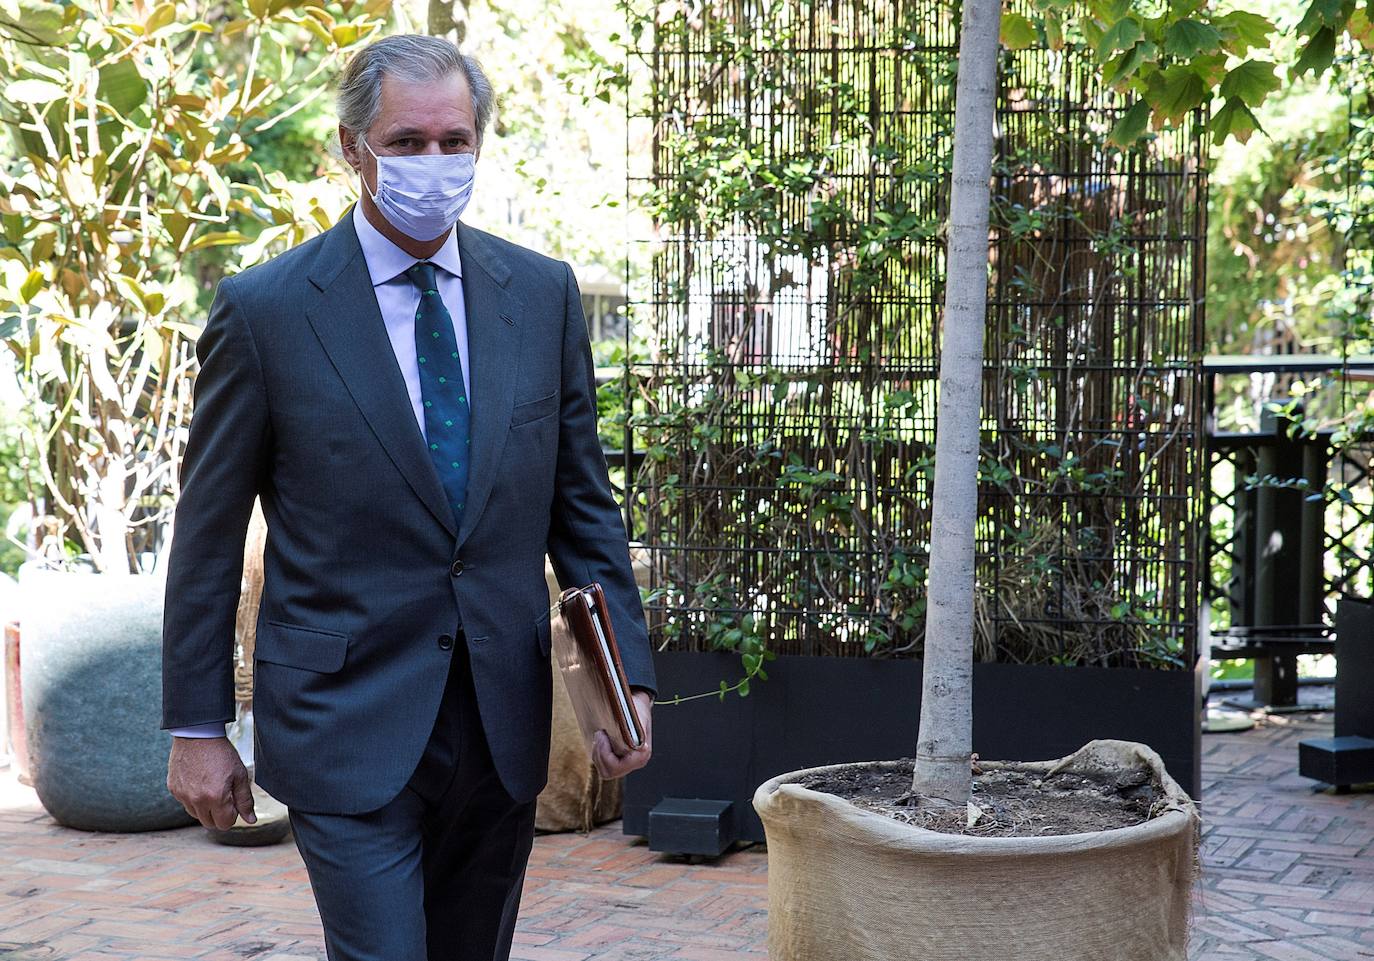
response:
[(304, 181), (246, 161), (378, 25), (375, 10), (335, 21), (286, 7), (0, 7), (11, 142), (0, 338), (37, 478), (21, 572), (23, 704), (33, 784), (70, 826), (188, 821), (166, 792), (170, 738), (158, 730), (158, 557), (191, 411), (195, 319), (227, 247), (251, 263), (342, 208), (342, 191), (312, 183), (313, 161)]

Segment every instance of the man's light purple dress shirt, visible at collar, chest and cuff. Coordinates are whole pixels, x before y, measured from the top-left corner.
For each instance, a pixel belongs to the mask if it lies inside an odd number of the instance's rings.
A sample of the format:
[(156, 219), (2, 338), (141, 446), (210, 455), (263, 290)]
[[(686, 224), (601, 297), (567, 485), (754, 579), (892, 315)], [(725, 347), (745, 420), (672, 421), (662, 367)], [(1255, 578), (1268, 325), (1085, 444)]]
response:
[[(381, 231), (363, 216), (361, 203), (353, 206), (353, 228), (357, 231), (357, 242), (363, 247), (367, 272), (372, 278), (372, 291), (376, 294), (376, 305), (382, 312), (382, 322), (386, 324), (386, 335), (392, 341), (392, 351), (396, 353), (401, 377), (405, 378), (405, 389), (411, 396), (411, 410), (415, 412), (415, 421), (420, 425), (423, 434), (425, 407), (420, 401), (420, 368), (415, 359), (415, 308), (419, 307), (420, 291), (405, 276), (405, 271), (418, 261), (382, 236)], [(440, 268), (434, 271), (438, 296), (444, 300), (444, 307), (448, 308), (449, 316), (453, 319), (453, 335), (458, 340), (459, 359), (463, 362), (463, 386), (467, 389), (467, 396), (471, 397), (473, 379), (467, 363), (467, 307), (463, 301), (463, 264), (458, 256), (456, 225), (449, 231), (444, 246), (429, 260)], [(173, 737), (224, 737), (224, 725), (214, 722), (191, 727), (173, 727), (170, 733)]]

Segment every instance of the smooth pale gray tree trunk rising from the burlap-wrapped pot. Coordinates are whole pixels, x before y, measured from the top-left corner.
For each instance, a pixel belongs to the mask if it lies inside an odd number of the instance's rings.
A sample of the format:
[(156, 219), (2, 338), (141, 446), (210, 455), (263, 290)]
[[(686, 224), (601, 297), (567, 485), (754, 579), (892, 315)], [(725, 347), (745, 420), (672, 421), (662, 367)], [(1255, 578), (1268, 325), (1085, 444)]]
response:
[(974, 524), (988, 305), (988, 181), (1000, 0), (963, 0), (954, 114), (925, 678), (912, 791), (965, 804), (973, 786)]

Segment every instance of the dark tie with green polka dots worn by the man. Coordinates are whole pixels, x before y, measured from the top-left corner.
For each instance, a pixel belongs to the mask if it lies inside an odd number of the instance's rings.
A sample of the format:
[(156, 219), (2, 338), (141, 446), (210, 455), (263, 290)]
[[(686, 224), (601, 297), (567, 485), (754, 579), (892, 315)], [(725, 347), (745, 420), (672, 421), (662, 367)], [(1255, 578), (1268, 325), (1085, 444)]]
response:
[(425, 404), (425, 440), (453, 509), (453, 520), (462, 524), (467, 500), (470, 418), (453, 318), (438, 296), (434, 264), (420, 261), (405, 271), (405, 276), (420, 291), (420, 302), (415, 308), (415, 353)]

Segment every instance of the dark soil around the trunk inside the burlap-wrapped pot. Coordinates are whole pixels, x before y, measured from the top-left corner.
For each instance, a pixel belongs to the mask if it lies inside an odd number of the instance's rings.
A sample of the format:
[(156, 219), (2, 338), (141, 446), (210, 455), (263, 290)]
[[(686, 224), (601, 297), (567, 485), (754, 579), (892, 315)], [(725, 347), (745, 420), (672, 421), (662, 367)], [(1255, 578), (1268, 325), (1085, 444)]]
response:
[[(901, 767), (811, 775), (804, 788), (943, 835), (1037, 837), (1129, 828), (1153, 817), (1164, 792), (1149, 771), (1044, 771), (984, 764), (973, 778), (973, 807), (937, 807), (911, 793), (911, 760)], [(971, 821), (971, 824), (970, 824)]]

